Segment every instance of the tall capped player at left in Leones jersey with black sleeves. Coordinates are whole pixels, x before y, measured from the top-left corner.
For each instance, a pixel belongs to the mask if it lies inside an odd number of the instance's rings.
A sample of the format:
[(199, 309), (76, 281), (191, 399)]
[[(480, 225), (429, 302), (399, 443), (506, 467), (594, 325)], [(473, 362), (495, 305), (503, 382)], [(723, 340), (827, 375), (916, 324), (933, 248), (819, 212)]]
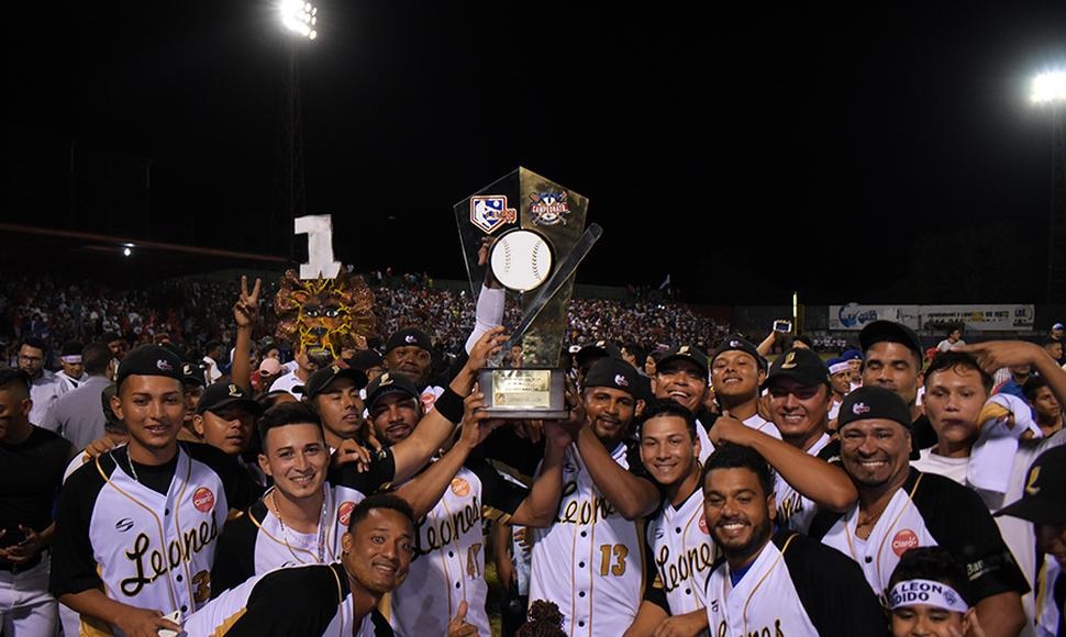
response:
[(181, 361), (140, 347), (116, 373), (111, 406), (129, 440), (64, 485), (51, 589), (82, 630), (179, 630), (164, 614), (196, 611), (211, 594), (216, 538), (231, 507), (251, 500), (247, 474), (207, 445), (177, 442), (185, 413)]

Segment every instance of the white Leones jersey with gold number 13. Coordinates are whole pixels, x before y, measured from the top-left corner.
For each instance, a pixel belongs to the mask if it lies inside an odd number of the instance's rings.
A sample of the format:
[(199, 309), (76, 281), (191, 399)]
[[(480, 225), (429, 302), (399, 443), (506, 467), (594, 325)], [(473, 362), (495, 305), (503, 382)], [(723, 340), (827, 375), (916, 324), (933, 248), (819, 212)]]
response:
[[(644, 476), (635, 442), (611, 454)], [(621, 635), (644, 595), (643, 521), (622, 517), (596, 487), (570, 444), (563, 457), (563, 500), (555, 523), (533, 529), (530, 600), (554, 602), (567, 635)]]

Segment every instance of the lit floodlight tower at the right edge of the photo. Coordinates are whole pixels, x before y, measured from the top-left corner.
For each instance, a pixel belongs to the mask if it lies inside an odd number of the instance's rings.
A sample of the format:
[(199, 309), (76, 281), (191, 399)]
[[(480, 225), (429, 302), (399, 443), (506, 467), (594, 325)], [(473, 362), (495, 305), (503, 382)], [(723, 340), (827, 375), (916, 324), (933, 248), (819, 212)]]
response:
[(1052, 203), (1047, 245), (1048, 303), (1066, 302), (1066, 71), (1042, 72), (1033, 79), (1031, 99), (1051, 110), (1052, 116)]

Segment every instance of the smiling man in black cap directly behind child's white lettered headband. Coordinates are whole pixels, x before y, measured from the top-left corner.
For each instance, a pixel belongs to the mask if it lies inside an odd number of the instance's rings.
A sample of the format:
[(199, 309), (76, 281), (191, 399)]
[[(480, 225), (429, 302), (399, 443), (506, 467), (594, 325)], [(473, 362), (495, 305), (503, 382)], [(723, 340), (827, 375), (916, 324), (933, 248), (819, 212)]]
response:
[(1025, 623), (1025, 578), (975, 492), (909, 466), (911, 417), (884, 388), (865, 385), (844, 399), (841, 461), (859, 501), (843, 514), (820, 511), (810, 535), (855, 560), (881, 599), (904, 551), (943, 546), (970, 574), (988, 635), (1017, 635)]

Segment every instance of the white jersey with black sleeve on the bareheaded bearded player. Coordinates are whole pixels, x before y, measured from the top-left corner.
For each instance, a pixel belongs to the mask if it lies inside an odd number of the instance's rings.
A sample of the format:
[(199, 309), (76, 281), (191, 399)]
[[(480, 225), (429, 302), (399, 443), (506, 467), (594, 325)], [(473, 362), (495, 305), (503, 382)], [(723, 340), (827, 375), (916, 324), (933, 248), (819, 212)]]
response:
[(724, 559), (707, 578), (711, 635), (884, 635), (885, 614), (847, 557), (792, 530), (773, 541), (733, 583)]

